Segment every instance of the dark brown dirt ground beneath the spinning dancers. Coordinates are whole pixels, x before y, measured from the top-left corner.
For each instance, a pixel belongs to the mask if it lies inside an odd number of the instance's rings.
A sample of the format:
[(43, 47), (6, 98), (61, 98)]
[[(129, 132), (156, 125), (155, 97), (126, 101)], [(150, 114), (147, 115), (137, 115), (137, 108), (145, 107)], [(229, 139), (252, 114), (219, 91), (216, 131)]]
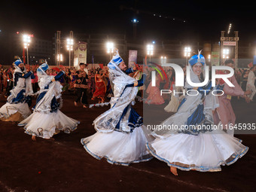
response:
[[(71, 134), (54, 136), (55, 141), (32, 142), (17, 123), (0, 122), (0, 191), (256, 191), (255, 135), (236, 135), (250, 149), (221, 172), (178, 170), (177, 177), (155, 158), (116, 166), (96, 160), (80, 143), (81, 138), (95, 133), (93, 120), (109, 107), (75, 108), (74, 96), (64, 95), (63, 99), (61, 111), (81, 124)], [(1, 97), (0, 106), (5, 101)], [(134, 108), (142, 115), (142, 103)], [(235, 101), (233, 108), (238, 122), (256, 122), (255, 102)]]

